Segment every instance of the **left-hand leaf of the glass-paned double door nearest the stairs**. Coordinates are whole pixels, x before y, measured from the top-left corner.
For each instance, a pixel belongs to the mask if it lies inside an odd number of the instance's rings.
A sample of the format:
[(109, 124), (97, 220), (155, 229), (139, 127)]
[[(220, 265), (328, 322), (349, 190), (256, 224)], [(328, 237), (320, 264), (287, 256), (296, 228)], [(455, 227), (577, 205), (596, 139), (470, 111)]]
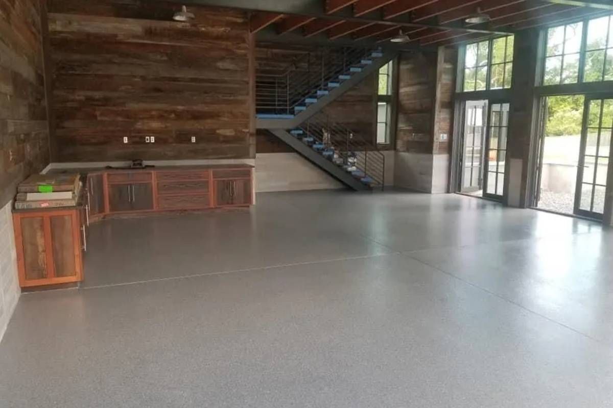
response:
[(483, 188), (487, 100), (465, 102), (460, 161), (460, 192), (472, 193)]

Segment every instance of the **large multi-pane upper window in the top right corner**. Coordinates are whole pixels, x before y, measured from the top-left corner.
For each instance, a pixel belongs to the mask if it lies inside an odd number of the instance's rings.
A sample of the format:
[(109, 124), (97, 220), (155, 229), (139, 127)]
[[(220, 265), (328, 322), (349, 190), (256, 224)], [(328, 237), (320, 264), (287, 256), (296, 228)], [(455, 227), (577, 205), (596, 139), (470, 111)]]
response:
[(543, 84), (613, 80), (613, 17), (547, 29)]

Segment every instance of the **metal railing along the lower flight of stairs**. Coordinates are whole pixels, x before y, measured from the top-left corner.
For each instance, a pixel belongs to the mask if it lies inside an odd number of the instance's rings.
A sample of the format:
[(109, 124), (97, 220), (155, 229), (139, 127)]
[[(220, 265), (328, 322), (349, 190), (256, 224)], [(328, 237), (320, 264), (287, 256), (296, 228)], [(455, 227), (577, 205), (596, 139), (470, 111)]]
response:
[(359, 132), (333, 122), (330, 116), (318, 113), (300, 125), (306, 137), (313, 138), (322, 152), (328, 152), (330, 160), (348, 171), (361, 172), (370, 179), (371, 187), (384, 188), (385, 156), (370, 141), (368, 132)]

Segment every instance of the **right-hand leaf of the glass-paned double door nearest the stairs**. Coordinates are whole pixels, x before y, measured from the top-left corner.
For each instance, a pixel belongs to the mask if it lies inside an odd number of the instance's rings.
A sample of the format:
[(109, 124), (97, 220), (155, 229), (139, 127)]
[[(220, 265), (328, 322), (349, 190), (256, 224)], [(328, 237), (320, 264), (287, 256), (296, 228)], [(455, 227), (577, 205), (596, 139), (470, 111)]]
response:
[(488, 117), (483, 196), (500, 199), (504, 193), (509, 103), (492, 103)]

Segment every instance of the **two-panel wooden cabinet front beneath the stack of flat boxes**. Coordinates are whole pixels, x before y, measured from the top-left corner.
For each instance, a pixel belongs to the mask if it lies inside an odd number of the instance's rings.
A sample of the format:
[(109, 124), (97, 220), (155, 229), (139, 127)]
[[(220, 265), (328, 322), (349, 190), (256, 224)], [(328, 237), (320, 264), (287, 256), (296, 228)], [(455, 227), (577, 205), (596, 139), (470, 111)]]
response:
[(13, 213), (21, 287), (82, 280), (80, 209)]

